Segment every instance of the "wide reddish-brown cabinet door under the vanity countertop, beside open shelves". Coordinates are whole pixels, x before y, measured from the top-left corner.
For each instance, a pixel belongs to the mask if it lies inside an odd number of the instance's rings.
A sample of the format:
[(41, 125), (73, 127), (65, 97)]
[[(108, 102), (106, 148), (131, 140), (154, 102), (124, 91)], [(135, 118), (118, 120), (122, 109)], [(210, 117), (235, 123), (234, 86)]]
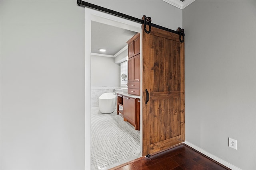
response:
[(135, 124), (135, 99), (124, 97), (124, 117), (132, 125)]

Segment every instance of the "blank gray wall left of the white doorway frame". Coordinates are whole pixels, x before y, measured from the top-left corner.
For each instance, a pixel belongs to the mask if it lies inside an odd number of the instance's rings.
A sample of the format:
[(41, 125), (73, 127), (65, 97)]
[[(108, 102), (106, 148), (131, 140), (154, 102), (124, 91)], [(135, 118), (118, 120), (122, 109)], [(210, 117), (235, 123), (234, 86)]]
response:
[(0, 168), (84, 169), (84, 8), (0, 5)]

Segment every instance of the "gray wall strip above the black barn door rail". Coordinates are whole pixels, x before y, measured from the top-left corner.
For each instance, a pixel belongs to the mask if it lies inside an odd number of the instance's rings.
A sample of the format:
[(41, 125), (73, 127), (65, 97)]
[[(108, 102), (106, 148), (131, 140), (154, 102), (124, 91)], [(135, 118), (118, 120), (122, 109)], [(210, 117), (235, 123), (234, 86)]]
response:
[(176, 30), (182, 27), (182, 10), (162, 0), (86, 0), (135, 18), (151, 17), (152, 23)]

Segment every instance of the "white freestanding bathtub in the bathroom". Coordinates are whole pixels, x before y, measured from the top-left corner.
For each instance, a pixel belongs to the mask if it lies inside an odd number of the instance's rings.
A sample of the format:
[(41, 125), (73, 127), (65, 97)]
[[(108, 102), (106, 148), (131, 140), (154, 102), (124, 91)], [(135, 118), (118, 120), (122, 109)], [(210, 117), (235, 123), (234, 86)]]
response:
[(116, 107), (116, 94), (108, 92), (100, 95), (99, 106), (101, 113), (112, 113)]

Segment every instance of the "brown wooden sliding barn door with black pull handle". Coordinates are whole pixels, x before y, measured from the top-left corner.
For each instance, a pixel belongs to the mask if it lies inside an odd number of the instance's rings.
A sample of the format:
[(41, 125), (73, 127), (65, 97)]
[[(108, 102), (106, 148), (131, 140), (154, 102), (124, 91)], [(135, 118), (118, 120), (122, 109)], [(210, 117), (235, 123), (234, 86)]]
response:
[(184, 107), (184, 43), (162, 29), (142, 31), (142, 156), (185, 140)]

